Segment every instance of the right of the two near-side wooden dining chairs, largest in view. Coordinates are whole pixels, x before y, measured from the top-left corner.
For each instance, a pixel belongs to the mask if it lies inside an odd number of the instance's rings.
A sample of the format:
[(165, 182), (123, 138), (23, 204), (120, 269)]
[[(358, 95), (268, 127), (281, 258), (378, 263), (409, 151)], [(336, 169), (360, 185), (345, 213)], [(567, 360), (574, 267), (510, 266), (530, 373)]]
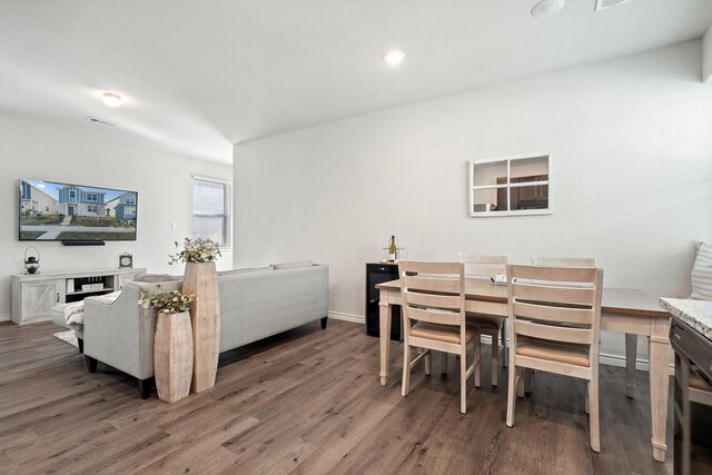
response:
[[(601, 452), (599, 333), (603, 269), (507, 265), (507, 426), (525, 368), (586, 380), (591, 448)], [(566, 285), (562, 285), (565, 283)]]

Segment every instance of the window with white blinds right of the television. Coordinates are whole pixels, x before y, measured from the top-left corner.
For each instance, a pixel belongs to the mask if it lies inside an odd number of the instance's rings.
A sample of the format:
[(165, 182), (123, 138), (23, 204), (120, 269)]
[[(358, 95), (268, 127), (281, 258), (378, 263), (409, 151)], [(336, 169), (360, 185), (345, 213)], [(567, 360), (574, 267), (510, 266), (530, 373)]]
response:
[(192, 179), (192, 237), (229, 246), (229, 185)]

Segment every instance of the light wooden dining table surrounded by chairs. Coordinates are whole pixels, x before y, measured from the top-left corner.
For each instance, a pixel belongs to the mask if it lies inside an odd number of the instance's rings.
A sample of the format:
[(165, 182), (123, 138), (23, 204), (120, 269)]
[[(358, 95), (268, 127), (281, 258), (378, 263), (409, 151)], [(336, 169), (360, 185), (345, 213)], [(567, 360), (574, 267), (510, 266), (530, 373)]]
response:
[[(400, 281), (390, 280), (376, 286), (380, 291), (380, 384), (388, 380), (390, 358), (392, 306), (403, 303)], [(465, 308), (467, 311), (507, 316), (507, 287), (484, 279), (468, 278), (465, 281)], [(635, 342), (637, 335), (647, 337), (650, 362), (650, 405), (653, 457), (665, 461), (668, 394), (670, 384), (670, 314), (659, 305), (659, 298), (643, 290), (625, 288), (603, 289), (601, 304), (601, 329), (626, 335), (626, 394), (634, 387)]]

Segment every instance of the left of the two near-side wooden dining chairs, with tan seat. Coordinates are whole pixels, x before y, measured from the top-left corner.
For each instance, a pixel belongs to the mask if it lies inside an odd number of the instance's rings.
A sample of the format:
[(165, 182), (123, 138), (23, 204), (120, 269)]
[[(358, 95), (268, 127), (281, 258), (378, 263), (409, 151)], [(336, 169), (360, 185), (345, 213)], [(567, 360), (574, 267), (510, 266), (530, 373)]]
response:
[[(467, 410), (467, 378), (478, 367), (479, 335), (465, 319), (465, 267), (462, 263), (398, 261), (403, 295), (403, 388), (411, 389), (411, 370), (426, 358), (429, 374), (431, 352), (459, 356), (459, 412)], [(467, 366), (467, 346), (473, 345), (474, 358)], [(412, 359), (412, 348), (425, 352)]]

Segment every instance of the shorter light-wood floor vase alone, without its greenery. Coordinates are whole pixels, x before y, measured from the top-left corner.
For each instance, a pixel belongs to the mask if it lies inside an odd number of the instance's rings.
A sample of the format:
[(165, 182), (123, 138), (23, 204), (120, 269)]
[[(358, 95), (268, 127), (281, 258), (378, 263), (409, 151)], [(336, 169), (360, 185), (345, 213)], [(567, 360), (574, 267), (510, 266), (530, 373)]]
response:
[(187, 311), (158, 313), (154, 336), (154, 375), (160, 400), (175, 403), (190, 393), (192, 327)]

